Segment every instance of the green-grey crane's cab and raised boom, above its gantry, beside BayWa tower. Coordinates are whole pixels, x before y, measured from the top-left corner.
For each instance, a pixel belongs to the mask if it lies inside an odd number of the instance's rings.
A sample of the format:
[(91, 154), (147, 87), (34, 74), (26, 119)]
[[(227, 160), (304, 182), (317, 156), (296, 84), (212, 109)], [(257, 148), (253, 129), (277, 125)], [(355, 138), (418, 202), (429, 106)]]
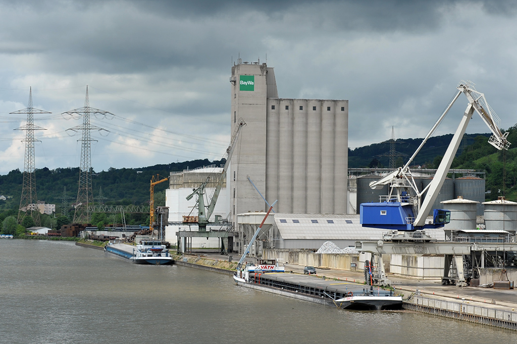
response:
[(194, 195), (197, 195), (197, 208), (199, 209), (199, 213), (197, 215), (197, 223), (200, 231), (206, 231), (206, 225), (208, 224), (208, 220), (212, 213), (214, 212), (214, 208), (216, 207), (217, 198), (219, 197), (219, 192), (223, 186), (224, 180), (226, 179), (226, 171), (230, 166), (230, 160), (232, 159), (233, 151), (235, 150), (235, 146), (237, 145), (237, 139), (240, 134), (240, 130), (242, 127), (246, 126), (246, 122), (240, 118), (237, 127), (235, 128), (232, 139), (230, 141), (230, 146), (226, 148), (226, 153), (224, 154), (223, 159), (226, 159), (224, 163), (223, 171), (219, 176), (219, 180), (217, 181), (216, 190), (214, 191), (214, 195), (212, 195), (212, 199), (208, 206), (205, 209), (205, 187), (210, 177), (206, 179), (206, 181), (198, 186), (196, 189), (193, 189), (192, 193), (187, 196), (187, 200), (191, 200)]

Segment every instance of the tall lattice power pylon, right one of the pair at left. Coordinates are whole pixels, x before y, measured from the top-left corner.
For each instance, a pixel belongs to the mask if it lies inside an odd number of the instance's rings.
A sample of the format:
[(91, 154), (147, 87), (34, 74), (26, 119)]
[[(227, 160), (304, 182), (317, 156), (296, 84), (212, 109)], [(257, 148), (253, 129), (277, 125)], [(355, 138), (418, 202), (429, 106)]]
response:
[(113, 115), (111, 112), (99, 110), (98, 108), (90, 107), (88, 99), (88, 85), (86, 85), (86, 98), (84, 99), (84, 107), (76, 108), (64, 112), (63, 114), (73, 115), (78, 114), (83, 116), (83, 124), (67, 130), (78, 132), (82, 130), (81, 142), (81, 166), (79, 168), (79, 189), (77, 191), (77, 201), (75, 202), (75, 212), (73, 215), (74, 223), (89, 223), (90, 212), (88, 206), (94, 204), (92, 192), (92, 142), (97, 140), (92, 139), (90, 133), (92, 130), (105, 131), (108, 130), (92, 126), (90, 124), (90, 114), (94, 115)]

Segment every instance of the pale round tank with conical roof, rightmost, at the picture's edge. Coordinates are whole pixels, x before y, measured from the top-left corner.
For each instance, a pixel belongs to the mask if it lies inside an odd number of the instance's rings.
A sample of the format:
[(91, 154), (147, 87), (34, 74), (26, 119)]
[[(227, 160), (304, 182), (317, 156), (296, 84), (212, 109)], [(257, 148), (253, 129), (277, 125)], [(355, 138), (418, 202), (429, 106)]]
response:
[(517, 203), (500, 197), (483, 202), (485, 226), (488, 230), (506, 230), (514, 234), (517, 230)]

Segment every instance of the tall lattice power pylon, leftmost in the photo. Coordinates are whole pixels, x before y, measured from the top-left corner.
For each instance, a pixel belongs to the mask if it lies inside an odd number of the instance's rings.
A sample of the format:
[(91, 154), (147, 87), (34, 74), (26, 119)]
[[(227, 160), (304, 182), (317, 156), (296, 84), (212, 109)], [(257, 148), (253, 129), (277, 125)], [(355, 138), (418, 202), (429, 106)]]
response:
[(51, 112), (38, 110), (33, 107), (32, 87), (29, 89), (29, 103), (27, 108), (11, 112), (10, 114), (27, 114), (27, 124), (14, 130), (25, 130), (25, 159), (23, 163), (23, 184), (20, 197), (20, 208), (18, 209), (18, 223), (21, 224), (25, 216), (31, 216), (36, 226), (39, 226), (38, 196), (36, 195), (36, 174), (34, 159), (34, 138), (35, 130), (45, 130), (34, 125), (34, 114), (51, 114)]

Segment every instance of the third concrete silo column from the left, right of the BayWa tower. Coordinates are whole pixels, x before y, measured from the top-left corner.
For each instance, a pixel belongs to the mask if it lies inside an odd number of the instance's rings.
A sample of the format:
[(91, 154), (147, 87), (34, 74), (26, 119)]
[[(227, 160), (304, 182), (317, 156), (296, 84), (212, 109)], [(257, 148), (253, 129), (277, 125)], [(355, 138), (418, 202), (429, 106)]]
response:
[(307, 100), (294, 101), (293, 118), (293, 213), (307, 213)]

